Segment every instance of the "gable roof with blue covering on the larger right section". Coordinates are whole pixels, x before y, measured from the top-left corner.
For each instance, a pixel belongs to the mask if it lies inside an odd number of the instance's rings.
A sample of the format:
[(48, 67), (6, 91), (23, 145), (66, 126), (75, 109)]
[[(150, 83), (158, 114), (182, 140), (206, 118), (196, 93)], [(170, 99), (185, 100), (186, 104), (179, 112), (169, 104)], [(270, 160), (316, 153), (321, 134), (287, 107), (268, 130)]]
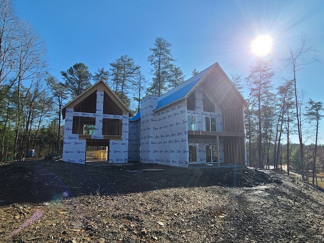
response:
[(198, 86), (203, 88), (204, 92), (208, 94), (222, 110), (238, 106), (248, 107), (248, 103), (237, 91), (236, 87), (218, 62), (216, 62), (189, 78), (181, 85), (158, 97), (157, 107), (154, 111), (169, 106), (179, 100), (188, 98)]

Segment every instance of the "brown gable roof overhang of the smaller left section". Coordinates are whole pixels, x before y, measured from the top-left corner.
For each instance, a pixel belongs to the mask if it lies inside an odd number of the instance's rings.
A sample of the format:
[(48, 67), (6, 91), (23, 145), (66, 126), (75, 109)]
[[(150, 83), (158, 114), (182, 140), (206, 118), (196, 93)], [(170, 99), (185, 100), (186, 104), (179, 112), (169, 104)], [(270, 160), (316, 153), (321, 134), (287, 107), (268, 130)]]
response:
[[(109, 106), (111, 106), (112, 109), (115, 110), (121, 110), (123, 114), (132, 112), (124, 105), (123, 102), (120, 101), (120, 99), (111, 91), (111, 89), (108, 87), (106, 83), (104, 83), (102, 80), (99, 80), (97, 83), (95, 83), (93, 86), (88, 88), (86, 91), (84, 91), (82, 94), (78, 95), (76, 98), (68, 102), (66, 105), (62, 108), (62, 116), (63, 119), (65, 118), (65, 110), (66, 108), (73, 108), (80, 102), (84, 101), (86, 98), (90, 97), (94, 94), (94, 92), (102, 91), (105, 92), (109, 96)], [(106, 98), (104, 98), (104, 102), (106, 103)], [(104, 105), (105, 105), (104, 103)]]

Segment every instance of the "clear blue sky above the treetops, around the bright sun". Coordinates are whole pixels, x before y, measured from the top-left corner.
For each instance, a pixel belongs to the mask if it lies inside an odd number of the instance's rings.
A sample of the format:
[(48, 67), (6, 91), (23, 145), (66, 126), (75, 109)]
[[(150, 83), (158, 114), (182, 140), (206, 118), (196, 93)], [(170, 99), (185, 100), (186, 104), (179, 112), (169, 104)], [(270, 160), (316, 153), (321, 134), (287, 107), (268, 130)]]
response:
[[(110, 68), (122, 55), (134, 59), (150, 79), (147, 57), (156, 37), (172, 43), (172, 54), (186, 79), (193, 69), (201, 71), (219, 62), (229, 75), (249, 75), (256, 57), (250, 44), (259, 34), (272, 36), (267, 58), (273, 60), (273, 79), (291, 78), (278, 58), (297, 48), (302, 34), (318, 52), (316, 62), (298, 72), (298, 88), (306, 99), (322, 101), (324, 68), (324, 1), (104, 1), (15, 0), (17, 15), (29, 22), (44, 40), (52, 75), (61, 79), (82, 62), (94, 73)], [(307, 57), (311, 58), (311, 56)], [(322, 121), (324, 123), (324, 121)], [(323, 126), (321, 126), (323, 127)], [(320, 137), (324, 138), (323, 129)], [(320, 140), (324, 143), (324, 140)]]

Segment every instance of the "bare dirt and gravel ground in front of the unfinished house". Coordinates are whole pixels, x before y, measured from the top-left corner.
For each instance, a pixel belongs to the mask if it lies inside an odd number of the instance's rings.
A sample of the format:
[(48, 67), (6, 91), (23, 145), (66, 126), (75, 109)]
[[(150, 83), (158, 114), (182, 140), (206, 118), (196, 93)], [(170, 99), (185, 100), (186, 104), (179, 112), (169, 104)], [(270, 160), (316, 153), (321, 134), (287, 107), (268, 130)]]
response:
[(324, 192), (245, 167), (18, 161), (0, 166), (0, 242), (324, 242)]

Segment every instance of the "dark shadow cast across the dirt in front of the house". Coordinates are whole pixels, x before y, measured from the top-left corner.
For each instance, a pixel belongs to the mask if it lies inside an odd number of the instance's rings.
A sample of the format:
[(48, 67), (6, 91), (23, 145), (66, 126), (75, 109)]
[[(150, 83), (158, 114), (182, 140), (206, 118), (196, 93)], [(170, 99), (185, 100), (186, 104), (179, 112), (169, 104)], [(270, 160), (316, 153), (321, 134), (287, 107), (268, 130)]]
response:
[[(154, 169), (153, 171), (138, 171)], [(257, 169), (186, 169), (157, 164), (78, 165), (15, 161), (0, 166), (0, 206), (40, 204), (80, 195), (118, 195), (174, 187), (252, 187), (280, 181)]]

